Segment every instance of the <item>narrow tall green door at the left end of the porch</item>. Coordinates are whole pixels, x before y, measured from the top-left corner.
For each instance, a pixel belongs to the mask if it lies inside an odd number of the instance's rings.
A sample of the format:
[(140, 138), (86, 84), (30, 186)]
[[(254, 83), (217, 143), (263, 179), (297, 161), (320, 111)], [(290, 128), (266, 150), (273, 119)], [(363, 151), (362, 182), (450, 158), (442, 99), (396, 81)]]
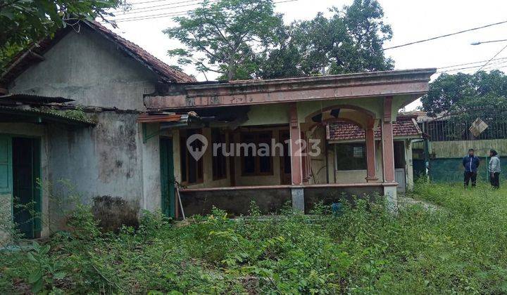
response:
[(175, 217), (175, 178), (173, 162), (173, 138), (160, 139), (162, 212)]

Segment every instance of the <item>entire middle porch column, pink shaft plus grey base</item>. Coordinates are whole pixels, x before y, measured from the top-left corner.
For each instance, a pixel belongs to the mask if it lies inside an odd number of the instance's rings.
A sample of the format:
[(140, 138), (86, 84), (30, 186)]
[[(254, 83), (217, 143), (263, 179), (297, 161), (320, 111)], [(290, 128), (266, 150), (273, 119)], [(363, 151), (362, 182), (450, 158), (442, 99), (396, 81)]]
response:
[[(292, 185), (303, 184), (303, 166), (301, 159), (301, 129), (299, 128), (297, 105), (292, 103), (289, 110), (291, 178)], [(291, 188), (292, 209), (304, 212), (304, 190)]]

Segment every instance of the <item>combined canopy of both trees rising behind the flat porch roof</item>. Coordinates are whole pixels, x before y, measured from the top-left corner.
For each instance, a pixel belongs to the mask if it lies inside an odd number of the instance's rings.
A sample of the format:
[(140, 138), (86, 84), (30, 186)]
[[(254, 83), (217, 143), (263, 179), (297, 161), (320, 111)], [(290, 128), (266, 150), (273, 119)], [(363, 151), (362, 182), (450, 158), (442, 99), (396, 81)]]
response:
[(290, 25), (273, 11), (272, 0), (209, 2), (188, 17), (175, 18), (177, 26), (165, 30), (184, 45), (169, 51), (180, 65), (218, 72), (223, 79), (393, 68), (382, 51), (392, 31), (376, 0), (355, 0), (343, 9), (332, 8), (329, 18), (319, 13)]

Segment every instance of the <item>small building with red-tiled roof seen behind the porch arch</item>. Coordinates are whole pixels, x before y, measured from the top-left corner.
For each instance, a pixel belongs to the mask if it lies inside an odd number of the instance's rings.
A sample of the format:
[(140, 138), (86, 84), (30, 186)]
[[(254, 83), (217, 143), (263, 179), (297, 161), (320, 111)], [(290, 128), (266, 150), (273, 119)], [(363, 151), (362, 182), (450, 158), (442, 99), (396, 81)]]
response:
[[(413, 188), (412, 143), (423, 140), (416, 116), (398, 115), (393, 122), (394, 180), (398, 192)], [(334, 183), (366, 183), (365, 131), (349, 122), (327, 124), (327, 142), (330, 144), (330, 159), (334, 169), (330, 173)], [(375, 169), (382, 175), (382, 134), (375, 129)], [(334, 173), (333, 173), (334, 172)]]

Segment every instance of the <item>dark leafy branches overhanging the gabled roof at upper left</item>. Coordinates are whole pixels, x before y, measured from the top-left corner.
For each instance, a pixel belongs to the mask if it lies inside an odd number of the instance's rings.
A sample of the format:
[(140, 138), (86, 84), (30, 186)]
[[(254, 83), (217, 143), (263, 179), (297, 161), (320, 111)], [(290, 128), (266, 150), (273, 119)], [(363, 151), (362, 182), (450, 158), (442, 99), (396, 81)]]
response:
[(0, 0), (0, 66), (32, 41), (77, 20), (94, 20), (124, 0)]

